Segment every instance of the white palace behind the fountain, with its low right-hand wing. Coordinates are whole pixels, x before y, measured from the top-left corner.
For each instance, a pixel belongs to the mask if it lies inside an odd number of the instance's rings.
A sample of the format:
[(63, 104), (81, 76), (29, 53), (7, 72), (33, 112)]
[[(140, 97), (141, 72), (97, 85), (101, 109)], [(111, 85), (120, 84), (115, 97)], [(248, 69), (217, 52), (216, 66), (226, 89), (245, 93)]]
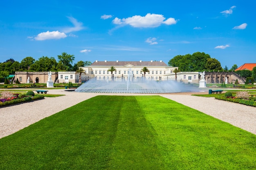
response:
[[(106, 80), (111, 79), (111, 72), (108, 71), (111, 66), (114, 66), (116, 71), (113, 72), (115, 81), (121, 81), (122, 78), (127, 79), (128, 72), (132, 72), (132, 76), (136, 78), (144, 77), (142, 68), (148, 68), (145, 78), (149, 80), (175, 80), (173, 70), (178, 67), (168, 66), (162, 60), (160, 61), (98, 61), (96, 60), (90, 66), (82, 67), (86, 74), (81, 76), (82, 82), (88, 79)], [(58, 75), (59, 80), (60, 75)], [(78, 77), (79, 79), (79, 77)], [(177, 73), (177, 81), (184, 83), (198, 83), (198, 72), (180, 72)], [(61, 81), (60, 81), (61, 82)]]

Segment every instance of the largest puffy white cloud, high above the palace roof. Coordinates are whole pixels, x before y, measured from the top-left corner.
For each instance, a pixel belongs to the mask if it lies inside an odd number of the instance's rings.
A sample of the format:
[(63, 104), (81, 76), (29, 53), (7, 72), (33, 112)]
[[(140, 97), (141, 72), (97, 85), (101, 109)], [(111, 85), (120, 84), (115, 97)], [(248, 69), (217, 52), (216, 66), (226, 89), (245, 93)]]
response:
[(148, 13), (146, 16), (140, 16), (140, 15), (135, 15), (129, 18), (115, 18), (112, 20), (114, 24), (121, 25), (121, 24), (128, 24), (132, 27), (136, 28), (147, 28), (147, 27), (157, 27), (160, 26), (161, 24), (176, 24), (178, 20), (175, 20), (174, 18), (168, 18), (165, 20), (163, 15), (159, 14), (150, 14)]

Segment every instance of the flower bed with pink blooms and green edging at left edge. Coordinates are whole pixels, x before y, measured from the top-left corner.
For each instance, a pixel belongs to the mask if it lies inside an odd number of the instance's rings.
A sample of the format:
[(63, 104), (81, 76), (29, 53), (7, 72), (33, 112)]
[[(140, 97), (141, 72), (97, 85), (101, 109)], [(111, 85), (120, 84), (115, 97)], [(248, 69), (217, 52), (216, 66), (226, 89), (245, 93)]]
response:
[(13, 94), (8, 91), (4, 91), (0, 93), (0, 107), (30, 102), (32, 100), (38, 100), (43, 98), (44, 95), (28, 96), (25, 94)]

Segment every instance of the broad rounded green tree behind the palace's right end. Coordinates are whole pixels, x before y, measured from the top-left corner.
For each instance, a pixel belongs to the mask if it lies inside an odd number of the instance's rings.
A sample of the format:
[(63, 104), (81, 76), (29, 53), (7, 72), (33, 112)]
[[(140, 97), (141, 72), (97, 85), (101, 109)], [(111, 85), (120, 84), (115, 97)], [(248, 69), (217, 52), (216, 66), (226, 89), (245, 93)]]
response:
[(207, 59), (211, 58), (209, 54), (196, 52), (186, 55), (177, 55), (173, 57), (169, 62), (169, 66), (179, 67), (181, 71), (203, 71)]

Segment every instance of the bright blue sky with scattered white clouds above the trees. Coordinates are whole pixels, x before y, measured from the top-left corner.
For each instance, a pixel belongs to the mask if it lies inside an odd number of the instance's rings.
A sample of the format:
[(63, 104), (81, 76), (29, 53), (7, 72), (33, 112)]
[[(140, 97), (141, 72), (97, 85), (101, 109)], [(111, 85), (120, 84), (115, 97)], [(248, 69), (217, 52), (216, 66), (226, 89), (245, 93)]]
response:
[[(254, 0), (1, 2), (0, 62), (62, 52), (78, 61), (166, 64), (197, 51), (222, 67), (256, 63)], [(73, 63), (73, 64), (74, 64)]]

